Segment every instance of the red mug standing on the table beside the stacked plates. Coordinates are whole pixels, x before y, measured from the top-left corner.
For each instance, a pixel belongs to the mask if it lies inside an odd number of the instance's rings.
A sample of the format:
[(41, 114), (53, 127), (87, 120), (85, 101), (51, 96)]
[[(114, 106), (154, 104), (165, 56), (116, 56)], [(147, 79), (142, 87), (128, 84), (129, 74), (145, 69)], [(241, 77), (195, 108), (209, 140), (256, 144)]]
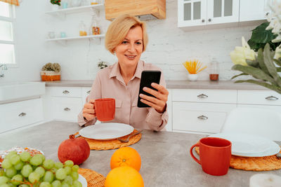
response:
[[(192, 149), (195, 146), (200, 148), (200, 160), (195, 158)], [(228, 173), (231, 158), (231, 142), (227, 139), (206, 137), (200, 139), (199, 143), (190, 148), (192, 158), (202, 165), (207, 174), (221, 176)]]

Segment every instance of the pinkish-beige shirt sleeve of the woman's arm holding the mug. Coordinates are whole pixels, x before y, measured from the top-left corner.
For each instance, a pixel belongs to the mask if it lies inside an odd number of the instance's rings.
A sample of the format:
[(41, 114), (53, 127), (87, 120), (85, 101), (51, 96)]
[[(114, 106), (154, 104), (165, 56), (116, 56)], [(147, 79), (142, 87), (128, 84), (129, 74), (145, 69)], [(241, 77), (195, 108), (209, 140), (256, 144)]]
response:
[[(86, 103), (88, 103), (91, 99), (98, 99), (101, 98), (101, 83), (100, 83), (100, 74), (98, 73), (96, 76), (96, 80), (93, 82), (90, 94), (86, 97)], [(96, 118), (93, 120), (84, 120), (83, 117), (83, 109), (78, 114), (78, 124), (79, 126), (89, 126), (96, 123)]]

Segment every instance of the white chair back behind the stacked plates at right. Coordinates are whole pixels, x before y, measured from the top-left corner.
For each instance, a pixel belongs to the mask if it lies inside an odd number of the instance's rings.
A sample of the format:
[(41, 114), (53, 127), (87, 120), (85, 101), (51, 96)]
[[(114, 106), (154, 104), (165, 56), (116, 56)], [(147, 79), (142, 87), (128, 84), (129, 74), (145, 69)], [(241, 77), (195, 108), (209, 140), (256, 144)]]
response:
[(281, 141), (281, 111), (237, 107), (230, 111), (221, 132), (256, 134)]

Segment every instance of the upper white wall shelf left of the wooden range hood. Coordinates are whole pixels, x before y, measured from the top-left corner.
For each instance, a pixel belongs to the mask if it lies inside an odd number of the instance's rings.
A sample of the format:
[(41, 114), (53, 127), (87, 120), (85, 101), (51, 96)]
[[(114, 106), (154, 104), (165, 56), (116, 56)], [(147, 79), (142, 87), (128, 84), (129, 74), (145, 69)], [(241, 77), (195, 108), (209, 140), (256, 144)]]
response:
[(46, 12), (46, 14), (58, 15), (58, 14), (70, 14), (70, 13), (82, 13), (84, 11), (91, 11), (91, 10), (100, 11), (103, 9), (104, 9), (103, 4), (94, 4), (94, 5), (90, 5), (90, 6), (77, 6), (77, 7), (72, 7), (72, 8), (63, 8), (63, 9), (59, 9), (58, 11)]

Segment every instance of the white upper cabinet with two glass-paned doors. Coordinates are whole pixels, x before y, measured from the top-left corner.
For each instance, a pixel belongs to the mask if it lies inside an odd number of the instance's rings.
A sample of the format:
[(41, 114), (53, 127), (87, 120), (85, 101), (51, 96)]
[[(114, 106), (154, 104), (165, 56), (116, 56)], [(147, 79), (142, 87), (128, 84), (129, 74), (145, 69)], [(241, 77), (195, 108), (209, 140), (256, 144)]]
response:
[(178, 0), (178, 27), (238, 22), (239, 0)]

